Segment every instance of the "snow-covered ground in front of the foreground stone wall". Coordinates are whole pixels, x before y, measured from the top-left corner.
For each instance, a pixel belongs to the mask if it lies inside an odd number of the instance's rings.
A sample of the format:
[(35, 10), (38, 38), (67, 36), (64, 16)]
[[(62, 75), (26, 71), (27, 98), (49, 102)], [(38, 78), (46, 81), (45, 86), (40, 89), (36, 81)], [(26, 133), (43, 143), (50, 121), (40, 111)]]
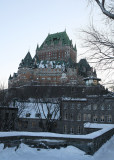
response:
[(0, 160), (114, 160), (114, 136), (105, 143), (93, 156), (73, 146), (61, 149), (30, 148), (21, 144), (16, 148), (5, 148), (0, 144)]

